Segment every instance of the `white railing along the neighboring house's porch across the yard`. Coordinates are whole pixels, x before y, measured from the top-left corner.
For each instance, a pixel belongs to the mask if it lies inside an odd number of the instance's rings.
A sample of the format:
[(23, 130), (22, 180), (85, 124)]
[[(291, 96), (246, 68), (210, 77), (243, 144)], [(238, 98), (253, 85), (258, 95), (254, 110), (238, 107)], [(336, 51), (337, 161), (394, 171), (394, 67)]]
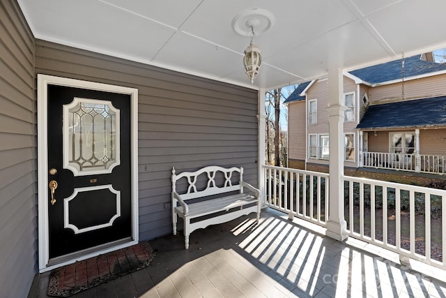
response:
[[(446, 156), (425, 154), (401, 154), (385, 152), (363, 152), (363, 166), (387, 170), (446, 174)], [(420, 166), (417, 167), (417, 158)]]

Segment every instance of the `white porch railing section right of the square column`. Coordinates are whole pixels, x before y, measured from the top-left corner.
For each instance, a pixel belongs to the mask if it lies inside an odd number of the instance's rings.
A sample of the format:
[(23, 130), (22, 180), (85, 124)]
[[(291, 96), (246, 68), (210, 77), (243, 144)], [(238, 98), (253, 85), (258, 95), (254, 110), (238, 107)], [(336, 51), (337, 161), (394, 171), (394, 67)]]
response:
[(446, 191), (344, 177), (351, 237), (446, 269)]

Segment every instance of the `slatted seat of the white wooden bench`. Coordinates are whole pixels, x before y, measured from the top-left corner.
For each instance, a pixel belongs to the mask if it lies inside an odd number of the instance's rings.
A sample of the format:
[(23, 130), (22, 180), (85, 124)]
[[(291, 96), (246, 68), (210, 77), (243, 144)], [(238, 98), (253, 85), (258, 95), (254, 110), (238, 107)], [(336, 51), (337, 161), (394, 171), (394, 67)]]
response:
[[(195, 218), (199, 216), (206, 216), (208, 214), (226, 211), (231, 208), (240, 207), (245, 204), (258, 202), (259, 199), (245, 193), (238, 193), (236, 195), (228, 195), (222, 198), (214, 198), (203, 202), (188, 204), (189, 217)], [(175, 209), (183, 214), (183, 207), (178, 206)]]

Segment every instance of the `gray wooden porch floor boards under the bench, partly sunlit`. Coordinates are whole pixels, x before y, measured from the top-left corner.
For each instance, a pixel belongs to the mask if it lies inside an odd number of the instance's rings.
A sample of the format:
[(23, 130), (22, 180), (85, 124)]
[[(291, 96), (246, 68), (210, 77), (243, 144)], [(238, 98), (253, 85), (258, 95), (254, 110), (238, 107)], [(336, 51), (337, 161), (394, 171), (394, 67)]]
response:
[[(446, 297), (444, 271), (303, 225), (264, 209), (259, 225), (252, 214), (193, 232), (188, 251), (181, 234), (154, 239), (151, 265), (75, 297)], [(47, 297), (48, 279), (29, 297)]]

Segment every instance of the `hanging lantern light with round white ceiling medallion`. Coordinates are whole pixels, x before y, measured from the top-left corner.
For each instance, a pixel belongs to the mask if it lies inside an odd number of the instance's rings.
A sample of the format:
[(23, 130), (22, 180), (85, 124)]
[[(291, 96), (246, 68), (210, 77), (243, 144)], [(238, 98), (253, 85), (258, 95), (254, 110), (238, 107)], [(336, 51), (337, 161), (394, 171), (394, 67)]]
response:
[(232, 28), (241, 36), (250, 36), (251, 42), (245, 50), (243, 57), (243, 66), (245, 72), (254, 83), (254, 79), (259, 74), (262, 64), (262, 57), (259, 46), (256, 45), (254, 38), (268, 31), (274, 23), (274, 16), (267, 10), (254, 8), (245, 10), (236, 15), (232, 20)]

